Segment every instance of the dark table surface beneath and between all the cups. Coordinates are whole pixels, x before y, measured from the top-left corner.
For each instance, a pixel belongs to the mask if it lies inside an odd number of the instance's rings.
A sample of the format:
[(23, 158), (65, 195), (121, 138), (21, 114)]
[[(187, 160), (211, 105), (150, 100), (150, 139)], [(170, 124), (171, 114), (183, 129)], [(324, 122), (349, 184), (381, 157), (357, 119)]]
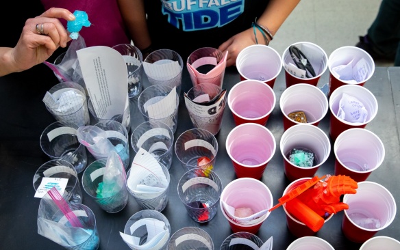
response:
[[(328, 82), (329, 72), (325, 72), (318, 82), (321, 87)], [(229, 89), (240, 81), (236, 68), (225, 71), (223, 88)], [(52, 122), (53, 116), (45, 108), (42, 98), (52, 85), (58, 83), (53, 72), (40, 64), (25, 72), (0, 77), (0, 249), (63, 249), (55, 242), (42, 237), (37, 232), (37, 215), (40, 199), (34, 197), (32, 184), (34, 173), (40, 165), (50, 159), (42, 152), (39, 138), (42, 130)], [(186, 67), (182, 80), (182, 93), (179, 104), (179, 122), (175, 132), (176, 138), (185, 130), (192, 128), (188, 111), (183, 102), (182, 94), (192, 86)], [(381, 167), (373, 171), (368, 181), (382, 184), (397, 201), (400, 201), (400, 68), (375, 68), (373, 77), (364, 87), (373, 92), (377, 98), (379, 110), (377, 116), (366, 129), (371, 130), (384, 142), (386, 156)], [(290, 181), (286, 179), (283, 169), (283, 158), (280, 154), (279, 141), (284, 133), (282, 113), (279, 108), (279, 98), (286, 89), (284, 70), (279, 74), (273, 87), (277, 96), (275, 109), (269, 117), (266, 127), (271, 130), (277, 142), (277, 149), (268, 163), (261, 181), (268, 186), (273, 194), (274, 204), (282, 197), (282, 193)], [(132, 130), (143, 122), (137, 108), (137, 97), (130, 100)], [(221, 131), (216, 135), (218, 154), (215, 171), (220, 176), (223, 186), (236, 179), (232, 162), (225, 150), (225, 139), (234, 128), (234, 120), (229, 107), (225, 108)], [(318, 125), (329, 136), (329, 112)], [(317, 176), (327, 173), (334, 174), (334, 152), (325, 164), (316, 172)], [(134, 150), (130, 148), (131, 163)], [(89, 163), (93, 161), (89, 157)], [(232, 234), (232, 230), (221, 210), (208, 223), (192, 221), (186, 214), (184, 205), (177, 195), (177, 182), (184, 169), (174, 153), (171, 173), (171, 190), (168, 204), (162, 213), (171, 223), (171, 234), (182, 227), (200, 227), (210, 234), (214, 241), (214, 249), (219, 249), (223, 240)], [(79, 173), (82, 178), (82, 173)], [(140, 208), (134, 197), (129, 196), (127, 206), (116, 214), (104, 212), (84, 192), (83, 204), (92, 209), (97, 219), (100, 235), (99, 249), (129, 249), (123, 242), (119, 232), (123, 232), (125, 223)], [(338, 212), (327, 221), (316, 236), (327, 240), (334, 249), (359, 249), (361, 244), (353, 243), (342, 234), (341, 222), (343, 212)], [(400, 215), (384, 230), (375, 236), (389, 236), (400, 240)], [(273, 249), (286, 249), (295, 236), (286, 227), (286, 216), (283, 208), (271, 212), (262, 224), (258, 234), (264, 242), (273, 236)]]

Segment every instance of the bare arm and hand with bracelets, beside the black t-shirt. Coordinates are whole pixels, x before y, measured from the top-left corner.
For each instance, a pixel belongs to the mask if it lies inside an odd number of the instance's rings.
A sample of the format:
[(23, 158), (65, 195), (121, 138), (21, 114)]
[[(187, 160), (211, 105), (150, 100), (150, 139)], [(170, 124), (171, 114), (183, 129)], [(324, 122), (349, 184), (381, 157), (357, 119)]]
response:
[[(300, 0), (271, 0), (260, 18), (258, 18), (257, 23), (266, 27), (274, 36), (299, 2)], [(256, 34), (258, 43), (264, 44), (264, 38), (258, 29), (256, 29)], [(268, 41), (270, 40), (268, 35), (266, 35), (266, 38), (268, 38)], [(228, 51), (227, 66), (232, 66), (236, 63), (236, 57), (238, 57), (240, 51), (255, 43), (253, 27), (249, 27), (249, 29), (229, 38), (218, 49), (223, 53)]]

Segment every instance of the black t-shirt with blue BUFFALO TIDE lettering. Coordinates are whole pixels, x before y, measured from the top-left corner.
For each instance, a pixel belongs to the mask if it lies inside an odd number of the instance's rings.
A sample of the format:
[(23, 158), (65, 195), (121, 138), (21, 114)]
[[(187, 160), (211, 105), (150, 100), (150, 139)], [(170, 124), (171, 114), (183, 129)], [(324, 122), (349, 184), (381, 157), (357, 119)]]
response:
[(218, 48), (249, 29), (267, 4), (268, 0), (146, 0), (153, 48), (172, 49), (186, 61), (197, 48)]

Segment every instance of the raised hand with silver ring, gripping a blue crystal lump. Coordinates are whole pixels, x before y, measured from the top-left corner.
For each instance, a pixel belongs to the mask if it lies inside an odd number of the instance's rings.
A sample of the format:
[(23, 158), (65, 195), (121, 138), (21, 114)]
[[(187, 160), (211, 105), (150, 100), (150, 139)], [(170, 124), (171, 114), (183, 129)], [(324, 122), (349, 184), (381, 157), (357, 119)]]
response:
[(27, 19), (16, 46), (0, 47), (0, 77), (32, 68), (46, 61), (59, 46), (66, 46), (71, 38), (58, 18), (75, 20), (71, 12), (61, 8)]

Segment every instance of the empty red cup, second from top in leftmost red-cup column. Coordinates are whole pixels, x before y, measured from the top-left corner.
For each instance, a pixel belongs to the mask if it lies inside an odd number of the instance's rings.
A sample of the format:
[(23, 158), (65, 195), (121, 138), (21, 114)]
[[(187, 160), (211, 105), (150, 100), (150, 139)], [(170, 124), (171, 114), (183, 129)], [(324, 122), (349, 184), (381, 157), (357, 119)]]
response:
[(236, 126), (246, 122), (265, 126), (276, 103), (273, 89), (258, 80), (236, 83), (229, 91), (227, 100)]

